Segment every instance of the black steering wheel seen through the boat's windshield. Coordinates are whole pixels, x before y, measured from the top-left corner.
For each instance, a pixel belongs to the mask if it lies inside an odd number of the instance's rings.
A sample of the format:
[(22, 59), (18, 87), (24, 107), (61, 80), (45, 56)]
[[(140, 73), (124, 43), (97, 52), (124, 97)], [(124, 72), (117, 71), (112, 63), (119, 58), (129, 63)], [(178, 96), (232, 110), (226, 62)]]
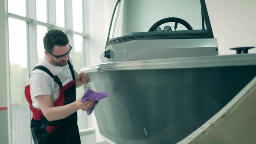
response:
[[(177, 18), (177, 17), (167, 17), (167, 18), (164, 18), (162, 20), (159, 20), (158, 22), (154, 23), (153, 26), (151, 26), (151, 28), (148, 30), (149, 32), (154, 32), (155, 30), (156, 31), (160, 31), (159, 30), (159, 26), (164, 24), (164, 23), (169, 23), (169, 22), (175, 22), (175, 25), (174, 25), (174, 29), (176, 30), (177, 29), (177, 25), (178, 23), (181, 23), (183, 26), (185, 26), (188, 30), (193, 30), (192, 26), (190, 26), (189, 23), (187, 23), (187, 21), (185, 20), (182, 20), (180, 18)], [(159, 27), (159, 28), (158, 28)], [(170, 27), (170, 26), (169, 26)], [(157, 29), (158, 28), (158, 29)], [(170, 27), (170, 30), (171, 30), (171, 27)]]

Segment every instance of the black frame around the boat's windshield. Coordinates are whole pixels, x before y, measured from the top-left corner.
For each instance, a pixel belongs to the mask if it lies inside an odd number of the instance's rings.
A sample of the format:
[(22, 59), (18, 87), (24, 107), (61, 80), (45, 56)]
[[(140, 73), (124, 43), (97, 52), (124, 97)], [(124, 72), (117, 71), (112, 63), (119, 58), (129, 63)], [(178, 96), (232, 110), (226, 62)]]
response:
[[(110, 22), (110, 26), (108, 29), (108, 37), (106, 41), (105, 49), (110, 46), (111, 44), (115, 43), (122, 43), (127, 42), (131, 40), (138, 40), (138, 39), (199, 39), (199, 38), (213, 38), (213, 31), (210, 24), (210, 18), (208, 15), (207, 7), (205, 0), (200, 0), (201, 4), (201, 13), (202, 13), (202, 29), (201, 30), (193, 30), (193, 32), (182, 32), (182, 33), (147, 33), (147, 34), (138, 34), (134, 36), (121, 36), (116, 37), (113, 39), (109, 39), (109, 35), (112, 28), (113, 18), (116, 12), (116, 9), (118, 7), (118, 3), (121, 0), (118, 0), (115, 4), (115, 8), (112, 14), (112, 19)], [(207, 29), (204, 29), (204, 24), (207, 27)], [(201, 32), (200, 32), (201, 31)]]

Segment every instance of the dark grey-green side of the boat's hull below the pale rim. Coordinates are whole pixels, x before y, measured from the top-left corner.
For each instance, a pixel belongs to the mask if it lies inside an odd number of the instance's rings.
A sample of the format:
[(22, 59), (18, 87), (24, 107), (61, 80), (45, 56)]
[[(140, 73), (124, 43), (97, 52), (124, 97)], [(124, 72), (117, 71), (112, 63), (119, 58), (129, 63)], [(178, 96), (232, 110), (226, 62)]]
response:
[(108, 91), (95, 115), (115, 144), (175, 144), (227, 105), (256, 75), (256, 65), (88, 73)]

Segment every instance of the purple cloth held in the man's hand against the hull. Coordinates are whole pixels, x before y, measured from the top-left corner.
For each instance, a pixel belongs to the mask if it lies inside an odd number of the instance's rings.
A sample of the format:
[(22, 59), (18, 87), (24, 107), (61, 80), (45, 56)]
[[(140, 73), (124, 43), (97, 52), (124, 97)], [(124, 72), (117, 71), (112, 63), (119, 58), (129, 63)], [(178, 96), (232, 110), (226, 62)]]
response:
[(90, 90), (89, 88), (85, 89), (85, 92), (82, 96), (81, 102), (84, 103), (85, 101), (95, 101), (95, 104), (92, 106), (92, 108), (90, 108), (89, 110), (87, 110), (87, 115), (91, 115), (93, 109), (95, 108), (95, 106), (98, 104), (98, 101), (102, 98), (105, 98), (106, 96), (109, 95), (109, 92), (94, 92), (92, 90)]

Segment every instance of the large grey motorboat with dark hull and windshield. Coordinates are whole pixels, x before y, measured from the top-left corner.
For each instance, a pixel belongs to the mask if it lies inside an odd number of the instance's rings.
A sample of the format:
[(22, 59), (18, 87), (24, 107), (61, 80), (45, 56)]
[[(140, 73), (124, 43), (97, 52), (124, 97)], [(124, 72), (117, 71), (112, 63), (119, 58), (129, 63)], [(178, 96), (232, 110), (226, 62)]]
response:
[[(85, 88), (110, 144), (255, 141), (256, 54), (219, 55), (205, 0), (118, 0)], [(254, 104), (253, 104), (254, 102)]]

